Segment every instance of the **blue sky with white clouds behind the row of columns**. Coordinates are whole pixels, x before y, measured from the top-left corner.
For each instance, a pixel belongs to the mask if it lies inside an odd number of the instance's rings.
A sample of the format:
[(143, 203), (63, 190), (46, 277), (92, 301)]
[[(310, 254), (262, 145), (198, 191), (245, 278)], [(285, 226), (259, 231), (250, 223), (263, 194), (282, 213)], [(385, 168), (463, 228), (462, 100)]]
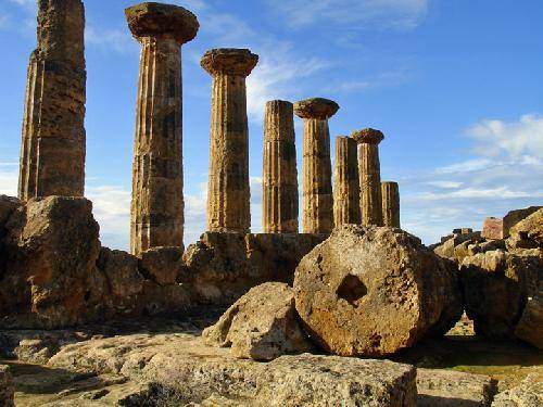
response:
[[(541, 0), (180, 0), (199, 36), (182, 50), (186, 243), (205, 228), (211, 48), (250, 48), (252, 230), (261, 230), (264, 103), (326, 97), (332, 139), (382, 130), (383, 180), (426, 243), (543, 204)], [(87, 196), (104, 244), (127, 249), (139, 44), (127, 0), (87, 0)], [(278, 5), (279, 4), (279, 5)], [(0, 193), (16, 194), (34, 0), (0, 0)], [(296, 119), (299, 158), (301, 122)], [(333, 142), (333, 140), (332, 140)], [(301, 163), (299, 164), (301, 168)]]

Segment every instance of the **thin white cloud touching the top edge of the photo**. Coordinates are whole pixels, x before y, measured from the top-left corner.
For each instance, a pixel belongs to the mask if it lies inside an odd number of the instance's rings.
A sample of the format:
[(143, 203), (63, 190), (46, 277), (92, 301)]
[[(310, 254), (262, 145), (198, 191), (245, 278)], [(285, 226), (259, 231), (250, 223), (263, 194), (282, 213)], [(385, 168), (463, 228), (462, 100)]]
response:
[(428, 13), (430, 0), (269, 0), (291, 27), (327, 24), (354, 29), (417, 27)]

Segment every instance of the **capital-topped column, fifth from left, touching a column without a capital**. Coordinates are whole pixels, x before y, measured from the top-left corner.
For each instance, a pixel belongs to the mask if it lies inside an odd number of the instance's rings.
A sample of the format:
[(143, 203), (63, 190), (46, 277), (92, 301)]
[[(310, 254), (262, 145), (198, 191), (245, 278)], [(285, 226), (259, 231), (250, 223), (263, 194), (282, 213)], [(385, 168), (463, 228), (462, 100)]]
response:
[(332, 169), (328, 119), (339, 105), (328, 99), (307, 99), (294, 104), (304, 119), (302, 219), (305, 233), (333, 229)]

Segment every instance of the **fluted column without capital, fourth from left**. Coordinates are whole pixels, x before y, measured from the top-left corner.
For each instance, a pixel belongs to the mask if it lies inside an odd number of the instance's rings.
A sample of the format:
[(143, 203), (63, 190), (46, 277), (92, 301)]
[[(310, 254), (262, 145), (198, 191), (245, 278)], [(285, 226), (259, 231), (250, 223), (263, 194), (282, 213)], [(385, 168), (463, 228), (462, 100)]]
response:
[(264, 119), (264, 233), (298, 232), (298, 169), (292, 103), (266, 103)]

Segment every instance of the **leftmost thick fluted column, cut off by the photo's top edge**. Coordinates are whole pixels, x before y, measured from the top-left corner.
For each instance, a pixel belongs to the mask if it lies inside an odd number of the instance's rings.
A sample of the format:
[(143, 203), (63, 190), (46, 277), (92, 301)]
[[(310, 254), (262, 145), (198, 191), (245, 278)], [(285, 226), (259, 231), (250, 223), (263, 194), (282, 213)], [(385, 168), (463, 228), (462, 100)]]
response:
[(18, 196), (85, 192), (85, 8), (38, 2), (38, 48), (28, 65)]

